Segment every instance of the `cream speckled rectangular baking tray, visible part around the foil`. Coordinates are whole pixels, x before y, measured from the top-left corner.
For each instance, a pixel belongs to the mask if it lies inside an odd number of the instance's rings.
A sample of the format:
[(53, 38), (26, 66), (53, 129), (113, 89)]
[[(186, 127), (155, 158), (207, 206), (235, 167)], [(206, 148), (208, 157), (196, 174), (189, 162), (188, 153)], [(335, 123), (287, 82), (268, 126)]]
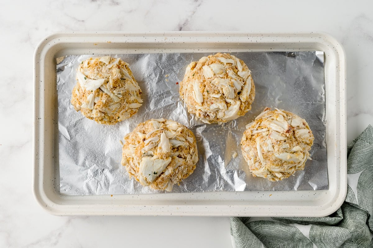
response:
[[(217, 51), (325, 53), (326, 144), (329, 189), (141, 195), (66, 196), (59, 193), (56, 58), (69, 54)], [(54, 33), (34, 54), (34, 177), (38, 203), (56, 215), (326, 216), (347, 191), (345, 53), (324, 33), (237, 34)]]

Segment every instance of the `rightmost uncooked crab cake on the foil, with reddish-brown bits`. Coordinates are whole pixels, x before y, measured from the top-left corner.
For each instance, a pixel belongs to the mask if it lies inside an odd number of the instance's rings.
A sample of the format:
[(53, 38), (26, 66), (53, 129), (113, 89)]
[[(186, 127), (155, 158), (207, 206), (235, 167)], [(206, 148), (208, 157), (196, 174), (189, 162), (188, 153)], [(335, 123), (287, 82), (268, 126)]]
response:
[(313, 134), (307, 122), (284, 110), (264, 109), (246, 125), (241, 150), (253, 176), (271, 181), (288, 178), (303, 170)]

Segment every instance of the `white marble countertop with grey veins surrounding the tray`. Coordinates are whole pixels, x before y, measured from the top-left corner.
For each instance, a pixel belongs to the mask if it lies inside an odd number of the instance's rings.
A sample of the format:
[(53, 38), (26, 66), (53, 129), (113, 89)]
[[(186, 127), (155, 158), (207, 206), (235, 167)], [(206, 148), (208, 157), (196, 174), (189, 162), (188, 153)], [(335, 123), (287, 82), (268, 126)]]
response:
[[(0, 247), (230, 247), (229, 218), (57, 217), (31, 191), (32, 61), (54, 31), (325, 31), (347, 54), (347, 139), (373, 124), (372, 1), (0, 1)], [(144, 240), (144, 236), (147, 241)], [(159, 242), (167, 237), (167, 242)]]

